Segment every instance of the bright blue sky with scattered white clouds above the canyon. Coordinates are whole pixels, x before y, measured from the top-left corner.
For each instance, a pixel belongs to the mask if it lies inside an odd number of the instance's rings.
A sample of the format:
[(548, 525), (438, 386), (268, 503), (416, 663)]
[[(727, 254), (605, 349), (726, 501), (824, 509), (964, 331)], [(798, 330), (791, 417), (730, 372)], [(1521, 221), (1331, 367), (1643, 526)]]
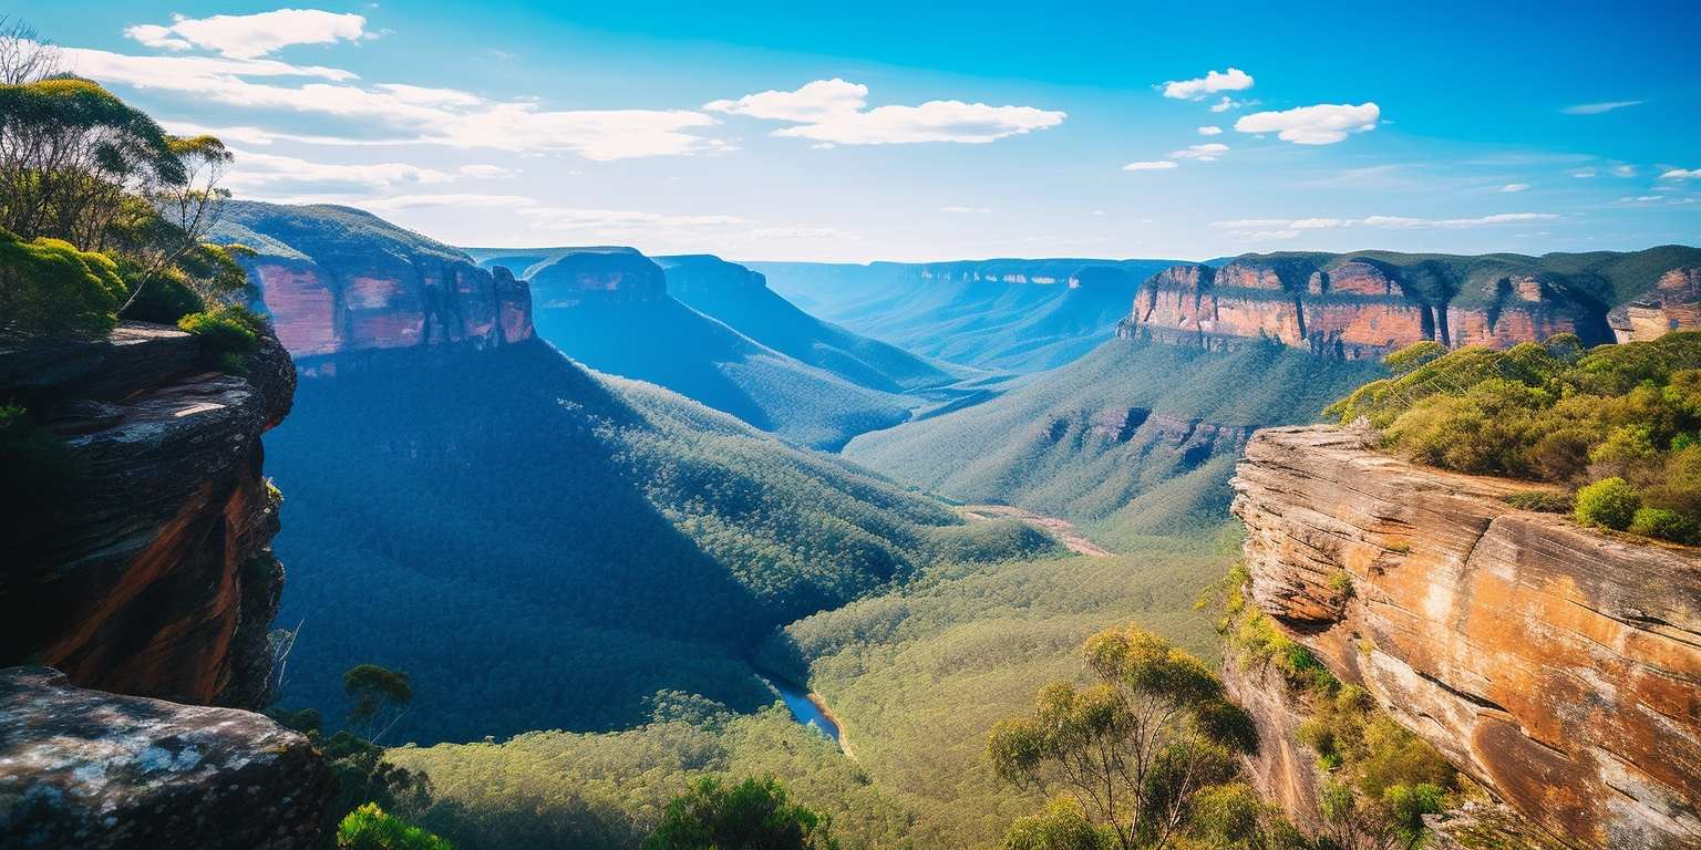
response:
[(174, 131), (225, 138), (238, 196), (359, 206), (456, 245), (936, 260), (1701, 241), (1696, 3), (737, 5), (0, 10)]

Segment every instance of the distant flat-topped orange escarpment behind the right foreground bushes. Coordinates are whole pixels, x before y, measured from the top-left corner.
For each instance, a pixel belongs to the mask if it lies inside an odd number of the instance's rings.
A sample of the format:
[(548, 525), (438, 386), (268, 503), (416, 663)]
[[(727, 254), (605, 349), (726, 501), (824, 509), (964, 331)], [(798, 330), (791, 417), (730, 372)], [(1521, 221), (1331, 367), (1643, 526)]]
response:
[[(1701, 326), (1701, 252), (1441, 257), (1247, 255), (1146, 279), (1118, 335), (1223, 350), (1277, 340), (1374, 359), (1414, 342), (1504, 348), (1575, 333), (1594, 345)], [(1645, 292), (1614, 308), (1624, 294)]]

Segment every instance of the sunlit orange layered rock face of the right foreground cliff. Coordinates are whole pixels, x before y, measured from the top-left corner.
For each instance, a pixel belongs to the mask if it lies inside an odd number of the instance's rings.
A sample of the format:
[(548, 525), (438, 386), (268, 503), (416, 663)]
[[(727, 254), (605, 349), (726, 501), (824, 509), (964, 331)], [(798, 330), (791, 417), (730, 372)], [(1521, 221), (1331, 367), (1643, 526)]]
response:
[(1572, 845), (1701, 845), (1701, 552), (1328, 427), (1257, 432), (1233, 488), (1254, 602), (1335, 675)]

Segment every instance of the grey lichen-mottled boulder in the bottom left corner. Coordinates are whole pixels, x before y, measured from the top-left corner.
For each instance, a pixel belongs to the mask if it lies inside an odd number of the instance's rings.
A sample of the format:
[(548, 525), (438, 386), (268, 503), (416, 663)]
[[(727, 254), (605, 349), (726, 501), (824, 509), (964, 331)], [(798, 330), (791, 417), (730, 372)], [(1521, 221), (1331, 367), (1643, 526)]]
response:
[(0, 670), (0, 845), (310, 850), (332, 794), (306, 738), (260, 714)]

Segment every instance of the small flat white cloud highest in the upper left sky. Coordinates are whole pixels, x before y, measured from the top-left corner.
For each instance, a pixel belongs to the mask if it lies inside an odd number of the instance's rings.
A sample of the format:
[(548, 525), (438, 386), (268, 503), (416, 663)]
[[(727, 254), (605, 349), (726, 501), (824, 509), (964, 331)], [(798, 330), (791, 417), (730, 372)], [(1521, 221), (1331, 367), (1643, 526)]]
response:
[(213, 15), (192, 19), (172, 15), (170, 26), (136, 24), (124, 36), (148, 48), (184, 51), (201, 48), (231, 60), (255, 60), (291, 44), (332, 44), (359, 41), (366, 19), (318, 8), (279, 8), (257, 15)]

